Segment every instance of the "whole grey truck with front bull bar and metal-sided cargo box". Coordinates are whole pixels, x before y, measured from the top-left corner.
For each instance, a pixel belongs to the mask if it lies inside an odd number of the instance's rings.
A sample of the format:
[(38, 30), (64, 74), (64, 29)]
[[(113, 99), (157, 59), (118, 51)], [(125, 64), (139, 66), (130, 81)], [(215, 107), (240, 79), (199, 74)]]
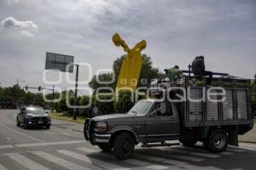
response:
[[(191, 85), (193, 77), (181, 77), (175, 84), (153, 82), (152, 95), (159, 99), (142, 99), (126, 114), (96, 116), (84, 122), (84, 137), (102, 150), (113, 149), (120, 160), (131, 157), (135, 144), (142, 147), (167, 146), (169, 140), (179, 140), (186, 146), (202, 142), (207, 150), (224, 151), (228, 144), (238, 145), (238, 134), (253, 128), (250, 107), (250, 82), (245, 79), (213, 78), (212, 86), (225, 89), (224, 100), (212, 102), (207, 99), (191, 102), (189, 97), (200, 99), (207, 93), (207, 85)], [(193, 84), (195, 84), (193, 82)], [(166, 86), (183, 87), (189, 91), (182, 102), (160, 99)], [(189, 90), (188, 90), (189, 88)], [(159, 90), (160, 89), (160, 90)], [(216, 99), (221, 98), (215, 90)], [(168, 94), (168, 93), (167, 93)], [(172, 91), (171, 96), (183, 94)], [(206, 94), (207, 95), (207, 94)]]

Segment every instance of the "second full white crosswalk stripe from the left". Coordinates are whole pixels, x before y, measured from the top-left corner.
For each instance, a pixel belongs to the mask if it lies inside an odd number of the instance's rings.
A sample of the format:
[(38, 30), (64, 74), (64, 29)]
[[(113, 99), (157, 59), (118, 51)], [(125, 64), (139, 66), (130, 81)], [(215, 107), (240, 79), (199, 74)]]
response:
[(61, 167), (65, 167), (69, 170), (89, 170), (89, 168), (87, 168), (87, 167), (79, 166), (78, 164), (75, 164), (71, 161), (64, 160), (60, 157), (50, 155), (43, 151), (32, 151), (32, 154), (34, 154), (35, 156), (42, 157), (47, 161), (53, 162)]

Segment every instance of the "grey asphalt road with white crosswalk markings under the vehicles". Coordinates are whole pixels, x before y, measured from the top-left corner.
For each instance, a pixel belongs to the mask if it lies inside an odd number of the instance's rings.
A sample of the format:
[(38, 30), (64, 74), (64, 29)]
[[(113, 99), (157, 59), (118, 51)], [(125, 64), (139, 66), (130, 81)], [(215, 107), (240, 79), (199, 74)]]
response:
[(0, 170), (89, 170), (89, 169), (247, 169), (256, 168), (256, 146), (230, 147), (221, 154), (182, 145), (142, 149), (131, 159), (117, 160), (85, 142), (83, 133), (61, 128), (68, 122), (53, 121), (50, 129), (15, 126), (18, 111), (0, 110)]

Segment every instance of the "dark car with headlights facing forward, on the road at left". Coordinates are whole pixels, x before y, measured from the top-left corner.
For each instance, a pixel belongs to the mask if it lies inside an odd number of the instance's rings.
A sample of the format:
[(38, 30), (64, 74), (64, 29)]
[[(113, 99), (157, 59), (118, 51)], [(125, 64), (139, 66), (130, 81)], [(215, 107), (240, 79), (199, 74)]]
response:
[(21, 107), (17, 116), (17, 126), (27, 127), (46, 127), (51, 125), (51, 119), (44, 109), (37, 106)]

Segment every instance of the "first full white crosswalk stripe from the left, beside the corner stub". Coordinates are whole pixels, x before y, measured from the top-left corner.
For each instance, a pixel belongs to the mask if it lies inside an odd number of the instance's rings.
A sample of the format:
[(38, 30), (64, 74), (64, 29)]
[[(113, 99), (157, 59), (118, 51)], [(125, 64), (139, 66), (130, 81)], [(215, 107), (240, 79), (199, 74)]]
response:
[(37, 169), (37, 170), (49, 170), (49, 168), (47, 167), (43, 167), (42, 165), (38, 164), (35, 161), (32, 161), (28, 158), (26, 158), (25, 156), (22, 156), (20, 154), (11, 154), (8, 155), (12, 160), (17, 161), (18, 163), (20, 163), (22, 166), (33, 170), (33, 169)]

